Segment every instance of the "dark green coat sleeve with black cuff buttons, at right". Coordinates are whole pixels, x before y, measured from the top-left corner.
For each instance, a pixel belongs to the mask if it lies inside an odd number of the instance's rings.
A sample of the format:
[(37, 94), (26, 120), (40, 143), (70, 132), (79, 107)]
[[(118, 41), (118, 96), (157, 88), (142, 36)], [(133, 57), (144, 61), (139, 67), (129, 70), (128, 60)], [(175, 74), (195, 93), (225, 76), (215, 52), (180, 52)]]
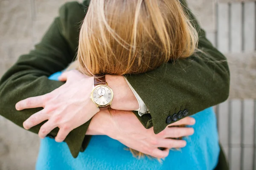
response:
[(136, 116), (146, 127), (160, 133), (167, 125), (218, 103), (229, 96), (230, 72), (227, 59), (207, 40), (185, 0), (181, 0), (199, 35), (199, 52), (154, 71), (127, 75), (150, 114)]

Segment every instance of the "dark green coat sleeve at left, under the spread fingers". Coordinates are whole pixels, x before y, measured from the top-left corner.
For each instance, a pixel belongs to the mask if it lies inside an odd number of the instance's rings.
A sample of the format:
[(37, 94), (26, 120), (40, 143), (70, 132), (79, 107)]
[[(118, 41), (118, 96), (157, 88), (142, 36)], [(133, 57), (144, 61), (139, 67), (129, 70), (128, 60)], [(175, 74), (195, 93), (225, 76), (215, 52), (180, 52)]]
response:
[[(74, 50), (76, 47), (68, 42), (72, 37), (65, 37), (67, 35), (65, 33), (69, 31), (67, 21), (70, 20), (68, 17), (70, 15), (67, 14), (67, 7), (70, 8), (70, 6), (72, 4), (66, 3), (60, 8), (60, 17), (55, 18), (41, 42), (35, 45), (35, 49), (29, 54), (20, 56), (15, 65), (0, 80), (0, 115), (20, 127), (23, 127), (23, 122), (29, 116), (42, 108), (17, 111), (15, 109), (16, 102), (28, 97), (47, 94), (63, 85), (63, 82), (49, 80), (48, 77), (66, 68), (76, 55)], [(78, 6), (78, 3), (75, 6)], [(80, 8), (79, 10), (83, 11)], [(73, 9), (72, 11), (77, 10)], [(84, 17), (85, 14), (81, 16)], [(81, 21), (82, 18), (78, 20)], [(77, 39), (78, 35), (78, 31), (75, 32), (73, 39)], [(44, 123), (32, 127), (30, 131), (38, 133)], [(89, 123), (90, 121), (71, 131), (64, 140), (74, 157), (78, 156), (79, 151), (83, 150), (89, 142), (90, 136), (85, 136)], [(55, 128), (48, 136), (55, 137), (58, 130)]]

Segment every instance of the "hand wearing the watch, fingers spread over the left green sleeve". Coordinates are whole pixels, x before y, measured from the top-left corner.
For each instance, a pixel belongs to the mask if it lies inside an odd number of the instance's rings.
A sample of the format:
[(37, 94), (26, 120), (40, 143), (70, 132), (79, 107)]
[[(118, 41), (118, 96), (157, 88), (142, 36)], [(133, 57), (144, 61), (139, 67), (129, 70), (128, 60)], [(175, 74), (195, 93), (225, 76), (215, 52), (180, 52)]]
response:
[(93, 77), (72, 70), (64, 72), (59, 80), (67, 82), (49, 94), (21, 100), (15, 106), (18, 111), (44, 108), (23, 122), (23, 127), (28, 130), (48, 120), (41, 126), (38, 135), (44, 138), (55, 127), (59, 127), (56, 142), (64, 141), (71, 130), (83, 125), (99, 112), (99, 108), (90, 99)]

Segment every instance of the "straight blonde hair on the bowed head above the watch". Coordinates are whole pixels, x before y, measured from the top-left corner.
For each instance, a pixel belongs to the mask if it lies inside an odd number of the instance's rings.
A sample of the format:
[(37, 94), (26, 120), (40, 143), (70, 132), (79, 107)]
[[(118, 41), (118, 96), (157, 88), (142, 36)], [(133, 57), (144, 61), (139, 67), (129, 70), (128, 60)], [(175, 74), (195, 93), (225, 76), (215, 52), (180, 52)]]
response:
[(189, 57), (197, 43), (179, 0), (91, 0), (76, 67), (88, 76), (140, 74)]

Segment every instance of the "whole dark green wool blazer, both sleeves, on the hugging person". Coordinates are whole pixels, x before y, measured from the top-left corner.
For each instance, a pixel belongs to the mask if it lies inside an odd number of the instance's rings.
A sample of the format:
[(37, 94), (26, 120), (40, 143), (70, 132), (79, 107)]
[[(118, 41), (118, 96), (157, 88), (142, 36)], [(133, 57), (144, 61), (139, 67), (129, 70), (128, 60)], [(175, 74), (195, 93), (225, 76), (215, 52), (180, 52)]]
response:
[[(75, 59), (79, 26), (89, 2), (69, 2), (61, 6), (59, 16), (54, 19), (41, 42), (28, 54), (20, 56), (3, 75), (0, 80), (0, 115), (23, 127), (23, 121), (42, 108), (16, 111), (16, 102), (47, 94), (64, 84), (48, 77), (67, 68)], [(154, 133), (160, 133), (175, 122), (170, 118), (179, 111), (186, 110), (183, 117), (190, 116), (224, 102), (229, 95), (230, 73), (226, 58), (207, 40), (205, 31), (186, 7), (185, 0), (181, 0), (181, 3), (198, 31), (198, 48), (201, 52), (187, 59), (178, 59), (175, 63), (163, 64), (154, 71), (126, 75), (150, 111), (150, 114), (141, 117), (134, 113), (145, 128), (154, 127)], [(29, 131), (38, 133), (44, 123)], [(74, 157), (78, 156), (79, 151), (84, 151), (90, 141), (90, 136), (85, 135), (89, 124), (90, 121), (72, 130), (65, 139)], [(48, 136), (55, 137), (58, 130), (55, 128)]]

